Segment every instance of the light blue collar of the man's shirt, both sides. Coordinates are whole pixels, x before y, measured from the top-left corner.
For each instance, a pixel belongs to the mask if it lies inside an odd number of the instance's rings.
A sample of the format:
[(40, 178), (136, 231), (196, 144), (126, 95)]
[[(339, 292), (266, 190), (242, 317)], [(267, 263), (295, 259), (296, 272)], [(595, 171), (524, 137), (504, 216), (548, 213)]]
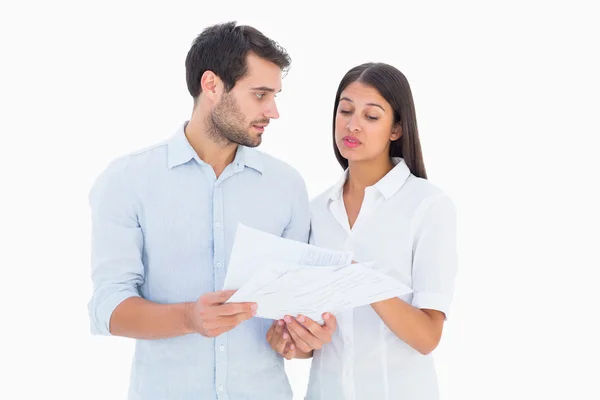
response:
[[(195, 159), (200, 165), (206, 164), (198, 157), (196, 151), (185, 136), (185, 127), (188, 121), (181, 124), (179, 129), (168, 141), (168, 167), (169, 169), (177, 167)], [(255, 149), (248, 148), (246, 146), (238, 145), (233, 164), (238, 170), (242, 170), (243, 167), (250, 167), (262, 174), (263, 163)]]

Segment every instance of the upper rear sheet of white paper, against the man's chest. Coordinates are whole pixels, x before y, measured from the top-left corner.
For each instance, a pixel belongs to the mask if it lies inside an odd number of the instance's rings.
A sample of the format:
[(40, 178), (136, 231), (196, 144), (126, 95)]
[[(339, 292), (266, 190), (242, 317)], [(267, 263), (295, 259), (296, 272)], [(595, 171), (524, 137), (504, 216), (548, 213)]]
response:
[(239, 289), (267, 264), (348, 265), (352, 255), (352, 252), (327, 250), (239, 224), (223, 289)]

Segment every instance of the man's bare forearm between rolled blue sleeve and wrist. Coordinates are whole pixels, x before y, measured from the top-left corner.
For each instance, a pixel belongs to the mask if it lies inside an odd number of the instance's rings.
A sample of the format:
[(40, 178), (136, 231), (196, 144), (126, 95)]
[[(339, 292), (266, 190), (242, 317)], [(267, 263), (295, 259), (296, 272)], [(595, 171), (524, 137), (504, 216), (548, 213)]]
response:
[(166, 339), (193, 333), (188, 318), (192, 304), (157, 304), (130, 297), (113, 311), (110, 333), (134, 339)]

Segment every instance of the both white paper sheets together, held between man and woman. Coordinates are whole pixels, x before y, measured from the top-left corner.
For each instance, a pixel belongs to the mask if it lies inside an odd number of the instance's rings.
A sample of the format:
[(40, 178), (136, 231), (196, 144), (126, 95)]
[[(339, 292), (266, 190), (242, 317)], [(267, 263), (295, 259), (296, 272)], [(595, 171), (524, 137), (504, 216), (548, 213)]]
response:
[(224, 289), (237, 289), (228, 303), (256, 302), (257, 317), (302, 314), (322, 324), (325, 312), (336, 314), (412, 292), (371, 266), (353, 264), (350, 252), (330, 251), (240, 225)]

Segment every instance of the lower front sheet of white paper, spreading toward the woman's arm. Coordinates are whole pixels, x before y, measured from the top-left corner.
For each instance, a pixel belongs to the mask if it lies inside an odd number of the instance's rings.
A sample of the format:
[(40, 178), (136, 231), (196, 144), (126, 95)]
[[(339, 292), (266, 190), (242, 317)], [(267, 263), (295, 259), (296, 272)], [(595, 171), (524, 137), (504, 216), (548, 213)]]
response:
[(256, 302), (257, 317), (305, 315), (322, 324), (332, 314), (403, 296), (412, 289), (368, 265), (306, 266), (271, 263), (255, 273), (228, 302)]

